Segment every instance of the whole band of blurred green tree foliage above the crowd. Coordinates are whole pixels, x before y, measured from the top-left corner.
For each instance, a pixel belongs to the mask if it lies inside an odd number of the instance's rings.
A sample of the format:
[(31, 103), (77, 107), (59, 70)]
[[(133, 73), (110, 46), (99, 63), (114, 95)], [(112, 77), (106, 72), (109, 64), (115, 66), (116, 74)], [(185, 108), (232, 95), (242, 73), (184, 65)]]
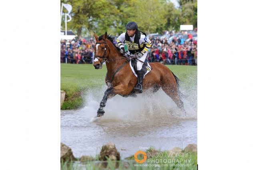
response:
[[(162, 30), (179, 30), (180, 24), (197, 26), (197, 0), (178, 0), (179, 8), (169, 0), (61, 0), (72, 5), (72, 20), (68, 30), (78, 36), (95, 31), (103, 34), (120, 34), (130, 21), (138, 24), (139, 30), (152, 33)], [(61, 4), (60, 4), (61, 5)], [(66, 9), (63, 8), (63, 12)], [(62, 29), (65, 28), (62, 17)]]

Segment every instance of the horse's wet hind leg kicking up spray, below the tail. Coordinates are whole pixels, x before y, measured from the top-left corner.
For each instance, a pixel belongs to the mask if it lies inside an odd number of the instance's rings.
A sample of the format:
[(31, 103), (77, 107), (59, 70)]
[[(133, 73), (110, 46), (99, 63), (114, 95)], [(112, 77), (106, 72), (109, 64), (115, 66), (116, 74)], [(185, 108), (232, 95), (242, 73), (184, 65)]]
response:
[(162, 86), (163, 91), (172, 98), (172, 100), (177, 104), (178, 108), (182, 110), (182, 112), (186, 113), (184, 109), (184, 104), (180, 100), (180, 96), (178, 94), (178, 87), (172, 87), (172, 86)]

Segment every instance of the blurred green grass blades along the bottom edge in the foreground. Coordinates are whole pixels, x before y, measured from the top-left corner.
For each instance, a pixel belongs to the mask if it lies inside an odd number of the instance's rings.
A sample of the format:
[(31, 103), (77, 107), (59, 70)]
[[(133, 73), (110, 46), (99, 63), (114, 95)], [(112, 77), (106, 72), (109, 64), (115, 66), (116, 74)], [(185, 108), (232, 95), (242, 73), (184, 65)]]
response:
[[(163, 151), (162, 153), (165, 153)], [(130, 156), (132, 157), (132, 156)], [(139, 158), (139, 157), (138, 157)], [(146, 163), (147, 160), (151, 161)], [(179, 160), (179, 163), (156, 163), (160, 160)], [(134, 159), (131, 160), (120, 160), (120, 161), (111, 161), (107, 158), (107, 161), (91, 161), (86, 163), (76, 162), (61, 162), (62, 170), (197, 170), (197, 152), (190, 153), (188, 156), (177, 156), (177, 157), (168, 157), (166, 154), (157, 155), (153, 158), (147, 158), (146, 162), (143, 164), (148, 164), (148, 166), (140, 166), (142, 164), (136, 163)], [(154, 160), (155, 163), (152, 163)], [(184, 162), (186, 161), (186, 162)], [(174, 165), (176, 164), (176, 165)], [(178, 165), (177, 165), (178, 164)]]

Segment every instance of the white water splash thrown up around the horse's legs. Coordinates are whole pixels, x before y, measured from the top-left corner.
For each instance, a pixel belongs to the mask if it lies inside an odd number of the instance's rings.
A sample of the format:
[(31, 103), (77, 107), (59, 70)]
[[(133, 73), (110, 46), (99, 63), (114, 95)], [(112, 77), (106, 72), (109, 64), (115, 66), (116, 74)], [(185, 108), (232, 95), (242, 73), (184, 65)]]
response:
[[(184, 94), (182, 101), (184, 102), (186, 114), (177, 107), (174, 101), (167, 96), (162, 89), (160, 89), (154, 94), (149, 91), (138, 94), (136, 98), (124, 98), (120, 95), (116, 95), (108, 99), (106, 107), (104, 108), (105, 114), (99, 121), (141, 122), (156, 119), (166, 121), (168, 119), (197, 118), (197, 87), (195, 81), (195, 84), (191, 83), (193, 82), (192, 80), (195, 79), (191, 77), (191, 81), (188, 79), (186, 82), (180, 84), (180, 90)], [(100, 101), (106, 89), (106, 86), (90, 89), (84, 96), (86, 106), (83, 110), (86, 114), (90, 114), (92, 118), (96, 116)]]

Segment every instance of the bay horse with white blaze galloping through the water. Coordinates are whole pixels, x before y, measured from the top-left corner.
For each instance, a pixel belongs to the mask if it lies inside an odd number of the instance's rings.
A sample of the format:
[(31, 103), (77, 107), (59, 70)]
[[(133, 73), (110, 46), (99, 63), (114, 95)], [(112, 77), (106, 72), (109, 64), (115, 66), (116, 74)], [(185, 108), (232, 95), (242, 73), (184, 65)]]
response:
[[(100, 108), (97, 111), (97, 116), (103, 116), (105, 111), (103, 108), (106, 106), (106, 102), (109, 98), (112, 98), (116, 94), (121, 96), (136, 96), (133, 93), (133, 88), (137, 84), (137, 78), (133, 74), (129, 58), (124, 57), (119, 52), (119, 48), (114, 45), (114, 37), (110, 34), (105, 34), (98, 37), (94, 32), (94, 38), (96, 39), (96, 45), (94, 47), (95, 55), (93, 66), (95, 69), (101, 69), (103, 62), (106, 62), (106, 85), (108, 89), (104, 93), (104, 96), (100, 102)], [(172, 71), (159, 62), (151, 62), (150, 66), (152, 70), (146, 74), (143, 81), (143, 90), (153, 88), (153, 92), (156, 92), (160, 88), (168, 95), (178, 108), (183, 112), (184, 105), (180, 100), (179, 95), (179, 79), (172, 73)], [(185, 112), (186, 113), (186, 112)]]

